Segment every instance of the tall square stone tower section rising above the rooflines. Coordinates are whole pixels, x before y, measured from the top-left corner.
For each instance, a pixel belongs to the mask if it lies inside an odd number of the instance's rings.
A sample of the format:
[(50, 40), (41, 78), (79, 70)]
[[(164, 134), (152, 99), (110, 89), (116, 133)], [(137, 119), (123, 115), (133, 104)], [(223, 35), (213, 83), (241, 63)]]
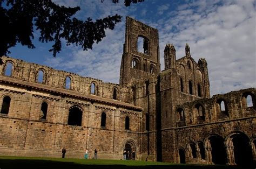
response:
[(158, 30), (126, 17), (120, 85), (156, 77), (160, 73)]

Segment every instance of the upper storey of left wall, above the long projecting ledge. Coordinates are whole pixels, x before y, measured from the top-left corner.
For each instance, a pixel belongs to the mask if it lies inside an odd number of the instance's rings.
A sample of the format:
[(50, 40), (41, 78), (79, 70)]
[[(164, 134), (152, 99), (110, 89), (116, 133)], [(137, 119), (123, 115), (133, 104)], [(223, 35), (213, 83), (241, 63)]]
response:
[[(77, 91), (79, 93), (91, 94), (91, 85), (95, 84), (95, 95), (104, 98), (113, 98), (113, 89), (117, 90), (117, 98), (119, 101), (126, 101), (126, 88), (120, 87), (114, 83), (104, 83), (102, 80), (85, 78), (75, 73), (58, 71), (56, 69), (28, 63), (22, 60), (2, 57), (4, 62), (0, 65), (0, 73), (4, 75), (6, 73), (6, 65), (12, 64), (11, 77), (19, 80), (41, 83), (43, 85), (57, 87), (62, 89), (68, 89)], [(43, 72), (43, 80), (39, 81), (39, 72)], [(66, 81), (66, 78), (70, 78), (70, 82)], [(67, 83), (67, 84), (66, 84)]]

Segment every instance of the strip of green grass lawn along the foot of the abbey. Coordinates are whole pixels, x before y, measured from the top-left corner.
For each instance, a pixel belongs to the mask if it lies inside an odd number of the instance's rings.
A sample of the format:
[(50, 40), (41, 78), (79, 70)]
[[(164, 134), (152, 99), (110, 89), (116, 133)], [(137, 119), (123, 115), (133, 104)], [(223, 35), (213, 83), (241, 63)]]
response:
[(172, 164), (152, 161), (132, 161), (132, 160), (91, 160), (91, 159), (62, 159), (62, 158), (39, 158), (39, 157), (6, 157), (0, 156), (0, 168), (172, 168), (172, 169), (188, 169), (188, 168), (245, 168), (238, 166), (226, 165), (192, 165), (192, 164)]

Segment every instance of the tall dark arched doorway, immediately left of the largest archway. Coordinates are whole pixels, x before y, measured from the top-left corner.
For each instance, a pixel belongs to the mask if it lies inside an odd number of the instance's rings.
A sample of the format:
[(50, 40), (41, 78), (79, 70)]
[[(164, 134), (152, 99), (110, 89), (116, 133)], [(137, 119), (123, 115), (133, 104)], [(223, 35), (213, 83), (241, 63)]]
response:
[(227, 153), (224, 145), (224, 138), (219, 135), (212, 135), (207, 138), (206, 149), (211, 150), (212, 162), (214, 164), (227, 164)]

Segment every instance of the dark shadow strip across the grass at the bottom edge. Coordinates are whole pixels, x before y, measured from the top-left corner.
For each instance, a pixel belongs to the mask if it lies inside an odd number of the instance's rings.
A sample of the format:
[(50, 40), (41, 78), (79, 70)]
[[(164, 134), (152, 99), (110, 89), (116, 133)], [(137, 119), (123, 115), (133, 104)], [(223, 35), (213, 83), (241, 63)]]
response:
[[(245, 169), (252, 167), (239, 167), (239, 166), (227, 166), (227, 165), (192, 165), (192, 164), (172, 164), (172, 165), (146, 165), (146, 166), (127, 166), (127, 165), (94, 165), (94, 164), (77, 164), (72, 162), (62, 162), (62, 161), (51, 161), (51, 160), (33, 160), (33, 159), (0, 159), (0, 168), (1, 169), (10, 169), (10, 168), (92, 168), (92, 169), (162, 169), (162, 168), (172, 168), (172, 169)], [(254, 167), (253, 167), (254, 168)]]

